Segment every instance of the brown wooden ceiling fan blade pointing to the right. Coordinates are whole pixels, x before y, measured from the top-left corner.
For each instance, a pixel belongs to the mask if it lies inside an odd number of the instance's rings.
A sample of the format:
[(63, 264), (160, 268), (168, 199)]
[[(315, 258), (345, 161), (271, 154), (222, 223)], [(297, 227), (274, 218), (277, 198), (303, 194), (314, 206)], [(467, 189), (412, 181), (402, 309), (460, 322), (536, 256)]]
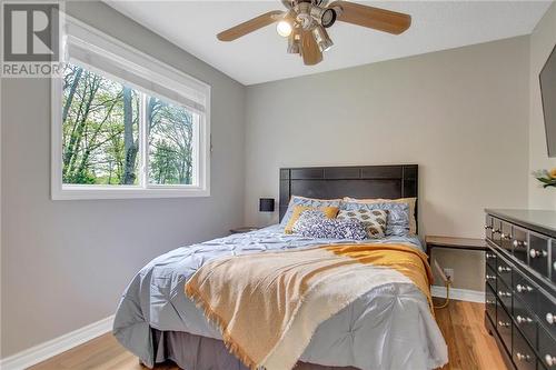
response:
[(334, 1), (328, 8), (340, 7), (338, 20), (375, 30), (399, 34), (411, 26), (411, 16), (350, 1)]

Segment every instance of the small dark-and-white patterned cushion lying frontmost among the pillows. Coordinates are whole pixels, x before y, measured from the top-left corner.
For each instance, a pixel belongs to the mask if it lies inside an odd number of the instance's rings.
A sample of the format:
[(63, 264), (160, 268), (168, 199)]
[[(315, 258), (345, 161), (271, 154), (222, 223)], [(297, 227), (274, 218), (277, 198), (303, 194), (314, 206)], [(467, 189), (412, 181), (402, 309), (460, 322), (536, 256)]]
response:
[(294, 224), (294, 232), (318, 239), (367, 239), (367, 231), (359, 220), (328, 219), (319, 210), (304, 211)]

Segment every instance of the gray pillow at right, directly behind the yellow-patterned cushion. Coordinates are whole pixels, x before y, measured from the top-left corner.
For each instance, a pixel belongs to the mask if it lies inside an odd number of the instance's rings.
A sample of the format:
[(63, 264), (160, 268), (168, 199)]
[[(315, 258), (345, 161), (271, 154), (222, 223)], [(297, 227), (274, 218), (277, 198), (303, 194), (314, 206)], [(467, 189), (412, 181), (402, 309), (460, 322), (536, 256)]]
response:
[(341, 203), (341, 210), (359, 209), (388, 211), (386, 237), (403, 237), (409, 233), (409, 206), (407, 203)]

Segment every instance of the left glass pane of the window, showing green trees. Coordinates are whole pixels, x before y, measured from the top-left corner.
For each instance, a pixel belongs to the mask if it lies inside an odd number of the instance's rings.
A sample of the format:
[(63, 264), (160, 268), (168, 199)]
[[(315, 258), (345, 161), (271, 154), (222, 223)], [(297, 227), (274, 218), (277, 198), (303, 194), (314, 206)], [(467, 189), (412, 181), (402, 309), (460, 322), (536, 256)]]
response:
[(67, 64), (62, 100), (62, 183), (138, 186), (142, 93)]

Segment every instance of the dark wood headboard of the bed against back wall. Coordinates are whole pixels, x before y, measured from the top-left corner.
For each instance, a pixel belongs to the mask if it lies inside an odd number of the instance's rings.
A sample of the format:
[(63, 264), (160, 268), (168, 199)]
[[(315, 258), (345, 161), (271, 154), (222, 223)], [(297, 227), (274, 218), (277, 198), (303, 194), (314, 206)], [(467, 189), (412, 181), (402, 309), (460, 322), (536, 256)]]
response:
[[(305, 167), (280, 169), (280, 221), (291, 196), (308, 198), (414, 198), (418, 166)], [(415, 209), (417, 219), (417, 207)]]

